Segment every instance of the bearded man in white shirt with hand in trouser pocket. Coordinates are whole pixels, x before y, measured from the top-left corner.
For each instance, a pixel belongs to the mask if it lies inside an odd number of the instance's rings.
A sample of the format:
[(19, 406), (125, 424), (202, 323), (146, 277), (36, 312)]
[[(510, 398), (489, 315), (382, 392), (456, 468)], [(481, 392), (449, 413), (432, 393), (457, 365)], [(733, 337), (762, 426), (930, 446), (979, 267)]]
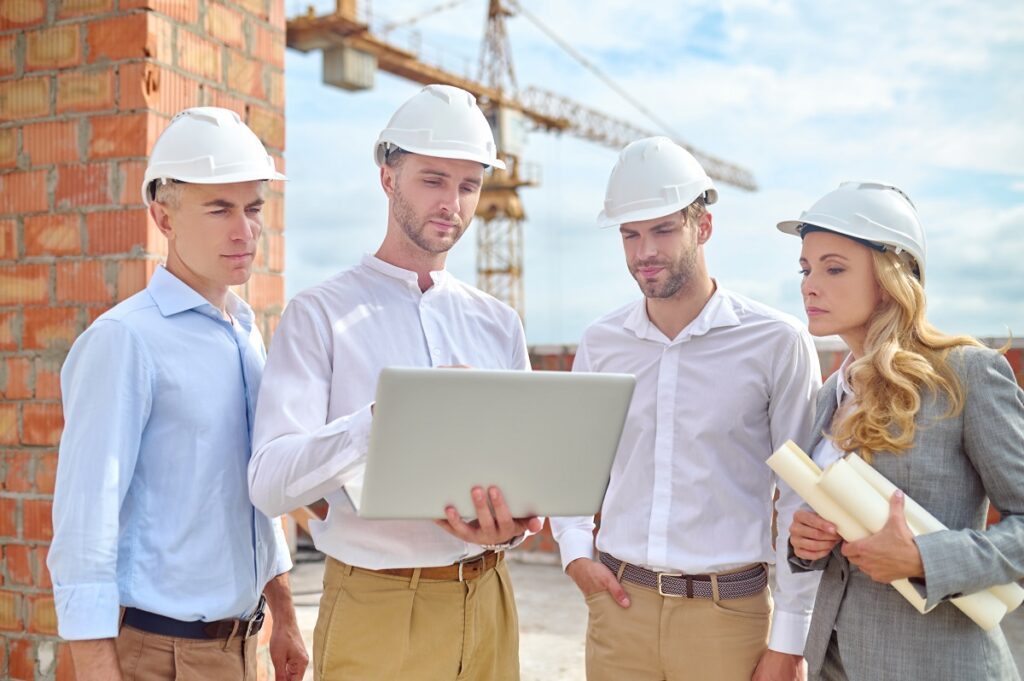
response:
[[(573, 371), (637, 386), (601, 509), (552, 518), (562, 564), (587, 599), (590, 681), (802, 679), (817, 580), (786, 561), (800, 499), (764, 461), (811, 427), (817, 355), (793, 317), (708, 273), (707, 206), (718, 193), (666, 137), (629, 144), (602, 227), (617, 226), (644, 294), (584, 333)], [(766, 563), (777, 588), (769, 594)]]

